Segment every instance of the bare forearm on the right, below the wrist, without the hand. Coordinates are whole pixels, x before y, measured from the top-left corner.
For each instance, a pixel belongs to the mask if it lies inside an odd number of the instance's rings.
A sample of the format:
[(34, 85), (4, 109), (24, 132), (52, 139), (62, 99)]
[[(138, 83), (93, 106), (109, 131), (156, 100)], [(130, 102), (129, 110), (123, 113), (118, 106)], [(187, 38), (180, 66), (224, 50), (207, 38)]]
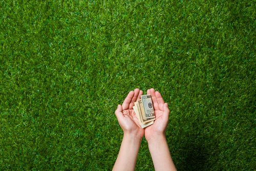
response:
[(155, 170), (176, 170), (165, 136), (153, 137), (148, 141)]

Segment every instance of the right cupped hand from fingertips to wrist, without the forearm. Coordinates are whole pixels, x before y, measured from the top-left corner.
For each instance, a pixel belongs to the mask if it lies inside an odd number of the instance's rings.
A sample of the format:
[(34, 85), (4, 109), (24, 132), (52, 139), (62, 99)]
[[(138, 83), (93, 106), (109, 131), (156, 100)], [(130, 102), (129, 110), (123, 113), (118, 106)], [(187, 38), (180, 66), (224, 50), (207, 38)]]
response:
[(145, 128), (145, 138), (150, 141), (152, 138), (165, 137), (165, 132), (168, 126), (169, 109), (167, 103), (164, 103), (163, 98), (159, 92), (154, 89), (147, 90), (147, 94), (152, 97), (154, 112), (156, 120), (154, 124)]

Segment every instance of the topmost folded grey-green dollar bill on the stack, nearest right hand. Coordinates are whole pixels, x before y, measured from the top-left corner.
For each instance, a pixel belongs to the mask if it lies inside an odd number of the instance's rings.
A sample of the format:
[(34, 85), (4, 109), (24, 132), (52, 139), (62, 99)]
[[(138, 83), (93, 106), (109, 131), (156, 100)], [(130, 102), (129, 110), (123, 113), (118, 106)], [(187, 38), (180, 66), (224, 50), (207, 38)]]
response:
[(141, 95), (140, 97), (141, 97), (142, 107), (144, 110), (145, 119), (155, 118), (156, 116), (153, 108), (151, 95), (150, 94)]

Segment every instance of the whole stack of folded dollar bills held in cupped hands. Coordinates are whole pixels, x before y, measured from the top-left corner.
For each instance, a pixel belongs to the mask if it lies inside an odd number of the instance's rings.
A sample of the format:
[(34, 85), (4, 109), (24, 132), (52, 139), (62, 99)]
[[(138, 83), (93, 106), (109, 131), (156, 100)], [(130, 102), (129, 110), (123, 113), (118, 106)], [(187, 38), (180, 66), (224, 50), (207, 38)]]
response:
[(134, 103), (133, 109), (142, 128), (152, 125), (156, 120), (151, 95), (141, 95), (141, 99)]

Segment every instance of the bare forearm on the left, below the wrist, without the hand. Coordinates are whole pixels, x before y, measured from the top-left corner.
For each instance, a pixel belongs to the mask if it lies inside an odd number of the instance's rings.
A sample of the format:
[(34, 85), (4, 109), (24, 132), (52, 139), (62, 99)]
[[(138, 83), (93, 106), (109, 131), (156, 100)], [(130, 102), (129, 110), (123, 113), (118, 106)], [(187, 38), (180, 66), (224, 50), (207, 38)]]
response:
[(141, 139), (124, 135), (113, 170), (134, 170)]

